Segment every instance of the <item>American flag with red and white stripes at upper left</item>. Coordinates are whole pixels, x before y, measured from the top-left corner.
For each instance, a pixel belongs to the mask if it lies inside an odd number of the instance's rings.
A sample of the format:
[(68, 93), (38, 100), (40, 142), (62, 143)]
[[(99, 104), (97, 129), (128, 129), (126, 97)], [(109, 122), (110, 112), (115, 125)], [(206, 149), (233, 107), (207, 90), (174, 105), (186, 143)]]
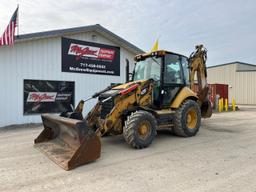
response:
[(15, 28), (18, 26), (18, 9), (15, 10), (15, 12), (12, 15), (12, 18), (10, 20), (10, 23), (6, 27), (1, 39), (0, 39), (0, 46), (2, 45), (13, 45), (15, 40)]

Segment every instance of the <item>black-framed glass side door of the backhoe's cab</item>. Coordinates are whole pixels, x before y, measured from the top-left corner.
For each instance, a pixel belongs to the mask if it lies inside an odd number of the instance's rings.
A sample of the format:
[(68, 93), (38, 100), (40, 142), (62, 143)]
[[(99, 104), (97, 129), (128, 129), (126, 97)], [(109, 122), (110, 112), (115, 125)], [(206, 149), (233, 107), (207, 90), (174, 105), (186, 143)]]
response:
[(186, 84), (181, 62), (180, 55), (169, 53), (164, 57), (160, 92), (161, 108), (169, 108), (178, 92)]

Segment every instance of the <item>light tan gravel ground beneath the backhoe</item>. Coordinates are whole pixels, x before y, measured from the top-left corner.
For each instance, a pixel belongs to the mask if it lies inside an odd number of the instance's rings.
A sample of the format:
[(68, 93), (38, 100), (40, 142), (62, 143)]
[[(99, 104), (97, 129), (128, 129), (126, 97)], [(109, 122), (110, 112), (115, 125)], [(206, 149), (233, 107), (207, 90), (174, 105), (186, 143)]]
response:
[(0, 191), (256, 191), (256, 108), (214, 114), (196, 137), (160, 132), (143, 150), (102, 139), (97, 161), (64, 171), (33, 147), (42, 127), (0, 131)]

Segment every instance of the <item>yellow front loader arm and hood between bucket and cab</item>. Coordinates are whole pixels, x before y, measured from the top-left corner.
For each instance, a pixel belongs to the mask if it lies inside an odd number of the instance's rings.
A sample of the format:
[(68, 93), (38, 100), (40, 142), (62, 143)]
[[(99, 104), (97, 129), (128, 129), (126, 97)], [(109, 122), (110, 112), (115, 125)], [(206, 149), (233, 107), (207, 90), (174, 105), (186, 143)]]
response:
[[(113, 94), (107, 94), (107, 99), (100, 99), (96, 105), (99, 107), (95, 107), (88, 114), (86, 118), (88, 125), (96, 125), (101, 135), (110, 132), (121, 134), (125, 116), (138, 107), (148, 106), (152, 103), (152, 90), (151, 80), (131, 82), (114, 87), (111, 91)], [(104, 114), (110, 105), (112, 105), (111, 110), (107, 112), (106, 116), (100, 115), (99, 118), (98, 115), (96, 117), (97, 113)]]

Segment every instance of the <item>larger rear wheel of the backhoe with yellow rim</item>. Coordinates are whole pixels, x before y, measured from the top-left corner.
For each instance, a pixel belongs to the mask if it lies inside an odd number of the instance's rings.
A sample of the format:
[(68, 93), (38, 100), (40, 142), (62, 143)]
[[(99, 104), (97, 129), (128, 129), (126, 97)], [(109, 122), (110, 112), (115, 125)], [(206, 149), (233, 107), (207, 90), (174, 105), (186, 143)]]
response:
[(199, 105), (193, 100), (184, 101), (175, 113), (173, 128), (175, 135), (180, 137), (195, 136), (200, 126), (201, 111)]

